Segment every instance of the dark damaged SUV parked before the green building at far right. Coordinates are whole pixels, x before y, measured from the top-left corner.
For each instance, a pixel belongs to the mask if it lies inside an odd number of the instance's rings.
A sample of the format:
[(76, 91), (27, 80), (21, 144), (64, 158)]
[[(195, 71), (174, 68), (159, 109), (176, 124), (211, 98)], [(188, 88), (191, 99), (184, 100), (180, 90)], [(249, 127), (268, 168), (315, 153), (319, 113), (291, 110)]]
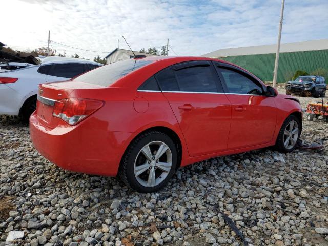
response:
[(321, 76), (299, 76), (294, 81), (286, 83), (287, 95), (300, 95), (309, 97), (324, 97), (326, 93), (326, 83)]

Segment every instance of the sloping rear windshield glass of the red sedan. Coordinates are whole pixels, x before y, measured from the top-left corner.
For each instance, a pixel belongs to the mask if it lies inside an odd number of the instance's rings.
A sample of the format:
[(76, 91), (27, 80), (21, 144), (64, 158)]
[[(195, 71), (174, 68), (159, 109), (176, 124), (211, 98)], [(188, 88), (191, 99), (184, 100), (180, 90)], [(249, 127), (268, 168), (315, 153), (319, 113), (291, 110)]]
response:
[(91, 84), (96, 84), (100, 86), (110, 86), (119, 78), (131, 73), (141, 67), (144, 67), (152, 63), (151, 60), (123, 60), (117, 61), (116, 63), (111, 63), (100, 68), (96, 68), (87, 73), (84, 73), (74, 80), (80, 82), (86, 82)]

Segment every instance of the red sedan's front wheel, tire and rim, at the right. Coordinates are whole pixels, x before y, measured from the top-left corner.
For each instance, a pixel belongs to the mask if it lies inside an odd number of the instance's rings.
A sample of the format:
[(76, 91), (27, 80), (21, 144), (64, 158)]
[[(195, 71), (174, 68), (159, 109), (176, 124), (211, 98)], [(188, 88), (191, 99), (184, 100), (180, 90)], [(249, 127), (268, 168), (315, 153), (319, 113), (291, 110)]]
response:
[(301, 123), (295, 115), (288, 116), (283, 122), (276, 141), (276, 149), (283, 153), (292, 152), (301, 135)]

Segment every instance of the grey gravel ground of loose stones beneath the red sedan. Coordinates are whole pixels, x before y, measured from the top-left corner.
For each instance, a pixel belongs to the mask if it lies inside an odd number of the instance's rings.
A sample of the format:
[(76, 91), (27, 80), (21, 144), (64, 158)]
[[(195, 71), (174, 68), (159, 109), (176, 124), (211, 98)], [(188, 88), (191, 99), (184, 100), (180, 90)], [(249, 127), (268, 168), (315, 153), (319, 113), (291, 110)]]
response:
[[(298, 98), (303, 108), (317, 100)], [(56, 167), (27, 126), (2, 116), (0, 246), (328, 245), (328, 124), (304, 115), (301, 138), (323, 149), (214, 158), (139, 194), (116, 178)], [(13, 231), (23, 238), (5, 242)]]

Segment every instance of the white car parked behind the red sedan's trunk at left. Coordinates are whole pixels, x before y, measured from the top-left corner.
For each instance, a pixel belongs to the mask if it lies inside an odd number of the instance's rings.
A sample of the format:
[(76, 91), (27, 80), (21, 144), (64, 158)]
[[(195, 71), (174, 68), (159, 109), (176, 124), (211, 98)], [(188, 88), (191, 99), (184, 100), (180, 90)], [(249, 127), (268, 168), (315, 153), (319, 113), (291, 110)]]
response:
[(0, 73), (0, 114), (19, 115), (28, 121), (36, 108), (38, 85), (68, 80), (103, 66), (94, 61), (51, 56), (42, 64)]

